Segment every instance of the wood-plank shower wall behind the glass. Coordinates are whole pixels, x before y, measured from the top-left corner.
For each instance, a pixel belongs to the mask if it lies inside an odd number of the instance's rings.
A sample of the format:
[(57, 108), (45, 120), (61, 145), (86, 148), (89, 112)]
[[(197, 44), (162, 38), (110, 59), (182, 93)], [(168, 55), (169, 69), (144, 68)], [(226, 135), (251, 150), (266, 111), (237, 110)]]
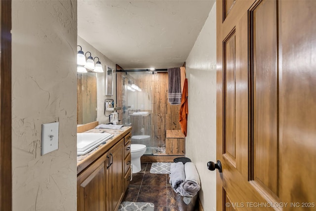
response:
[[(147, 74), (145, 74), (147, 72)], [(148, 151), (145, 155), (163, 155), (165, 153), (165, 135), (166, 130), (168, 129), (180, 129), (180, 124), (178, 123), (179, 118), (179, 105), (170, 105), (167, 100), (168, 93), (168, 74), (167, 69), (158, 69), (158, 70), (150, 70), (150, 69), (133, 69), (133, 70), (123, 70), (117, 65), (116, 70), (116, 84), (117, 84), (117, 103), (118, 106), (122, 107), (120, 111), (119, 118), (124, 124), (123, 116), (126, 116), (126, 112), (132, 110), (128, 105), (125, 105), (124, 101), (124, 91), (127, 91), (123, 88), (123, 80), (128, 78), (132, 74), (144, 74), (147, 79), (141, 79), (139, 81), (135, 80), (135, 78), (130, 79), (139, 83), (138, 86), (142, 90), (149, 91), (151, 96), (151, 110), (150, 112), (150, 134), (151, 135), (151, 145), (147, 146), (151, 149), (151, 152)], [(151, 73), (151, 74), (150, 74)], [(120, 77), (121, 76), (121, 77)], [(132, 76), (131, 76), (132, 77)], [(126, 82), (125, 82), (126, 83)], [(151, 84), (151, 90), (149, 90), (149, 84)], [(124, 90), (123, 90), (124, 89)], [(158, 102), (157, 102), (158, 101)], [(129, 109), (129, 110), (128, 110)], [(135, 112), (140, 109), (136, 108)], [(148, 110), (147, 110), (148, 111)], [(133, 111), (134, 112), (134, 111)], [(125, 114), (124, 114), (125, 113)], [(126, 121), (125, 121), (126, 124)], [(132, 126), (132, 125), (126, 125)], [(133, 127), (133, 126), (132, 126)], [(135, 126), (134, 126), (135, 127)], [(140, 131), (139, 131), (140, 132)], [(148, 131), (147, 131), (148, 132)], [(145, 132), (146, 134), (146, 132)], [(135, 135), (135, 134), (132, 134)], [(154, 147), (154, 148), (151, 148)]]

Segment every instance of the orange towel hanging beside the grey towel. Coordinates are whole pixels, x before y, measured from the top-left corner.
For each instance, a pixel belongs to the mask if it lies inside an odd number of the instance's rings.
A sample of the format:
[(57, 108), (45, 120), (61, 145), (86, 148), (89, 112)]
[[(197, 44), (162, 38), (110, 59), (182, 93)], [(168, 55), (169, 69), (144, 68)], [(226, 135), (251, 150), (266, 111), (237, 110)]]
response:
[(187, 121), (188, 121), (188, 79), (185, 79), (183, 86), (183, 93), (181, 98), (181, 105), (179, 111), (179, 123), (181, 126), (181, 131), (184, 136), (187, 136)]

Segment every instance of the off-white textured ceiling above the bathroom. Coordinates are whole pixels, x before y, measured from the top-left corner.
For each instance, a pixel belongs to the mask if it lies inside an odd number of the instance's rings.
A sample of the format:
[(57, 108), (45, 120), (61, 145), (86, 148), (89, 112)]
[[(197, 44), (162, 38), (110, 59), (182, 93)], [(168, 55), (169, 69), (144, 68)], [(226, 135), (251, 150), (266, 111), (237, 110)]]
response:
[(214, 2), (78, 0), (78, 35), (124, 69), (179, 67)]

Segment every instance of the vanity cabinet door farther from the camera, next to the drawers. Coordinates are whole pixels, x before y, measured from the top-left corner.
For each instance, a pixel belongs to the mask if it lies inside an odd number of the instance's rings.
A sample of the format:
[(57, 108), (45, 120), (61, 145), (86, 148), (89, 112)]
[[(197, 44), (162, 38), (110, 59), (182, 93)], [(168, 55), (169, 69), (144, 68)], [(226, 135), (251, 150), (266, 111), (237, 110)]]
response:
[(108, 169), (108, 193), (110, 211), (118, 210), (124, 196), (124, 139), (122, 138), (109, 151), (110, 167)]

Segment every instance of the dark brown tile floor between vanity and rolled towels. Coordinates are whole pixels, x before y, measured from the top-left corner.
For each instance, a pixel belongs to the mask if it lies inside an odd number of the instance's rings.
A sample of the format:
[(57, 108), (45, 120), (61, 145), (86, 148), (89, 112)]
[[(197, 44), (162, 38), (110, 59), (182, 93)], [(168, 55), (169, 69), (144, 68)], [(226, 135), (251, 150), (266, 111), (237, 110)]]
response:
[[(172, 190), (169, 175), (150, 173), (151, 166), (151, 163), (142, 163), (141, 171), (133, 173), (123, 201), (151, 202), (155, 205), (155, 211), (185, 211), (183, 207), (179, 208), (178, 202), (182, 198)], [(186, 205), (183, 206), (187, 208)]]

